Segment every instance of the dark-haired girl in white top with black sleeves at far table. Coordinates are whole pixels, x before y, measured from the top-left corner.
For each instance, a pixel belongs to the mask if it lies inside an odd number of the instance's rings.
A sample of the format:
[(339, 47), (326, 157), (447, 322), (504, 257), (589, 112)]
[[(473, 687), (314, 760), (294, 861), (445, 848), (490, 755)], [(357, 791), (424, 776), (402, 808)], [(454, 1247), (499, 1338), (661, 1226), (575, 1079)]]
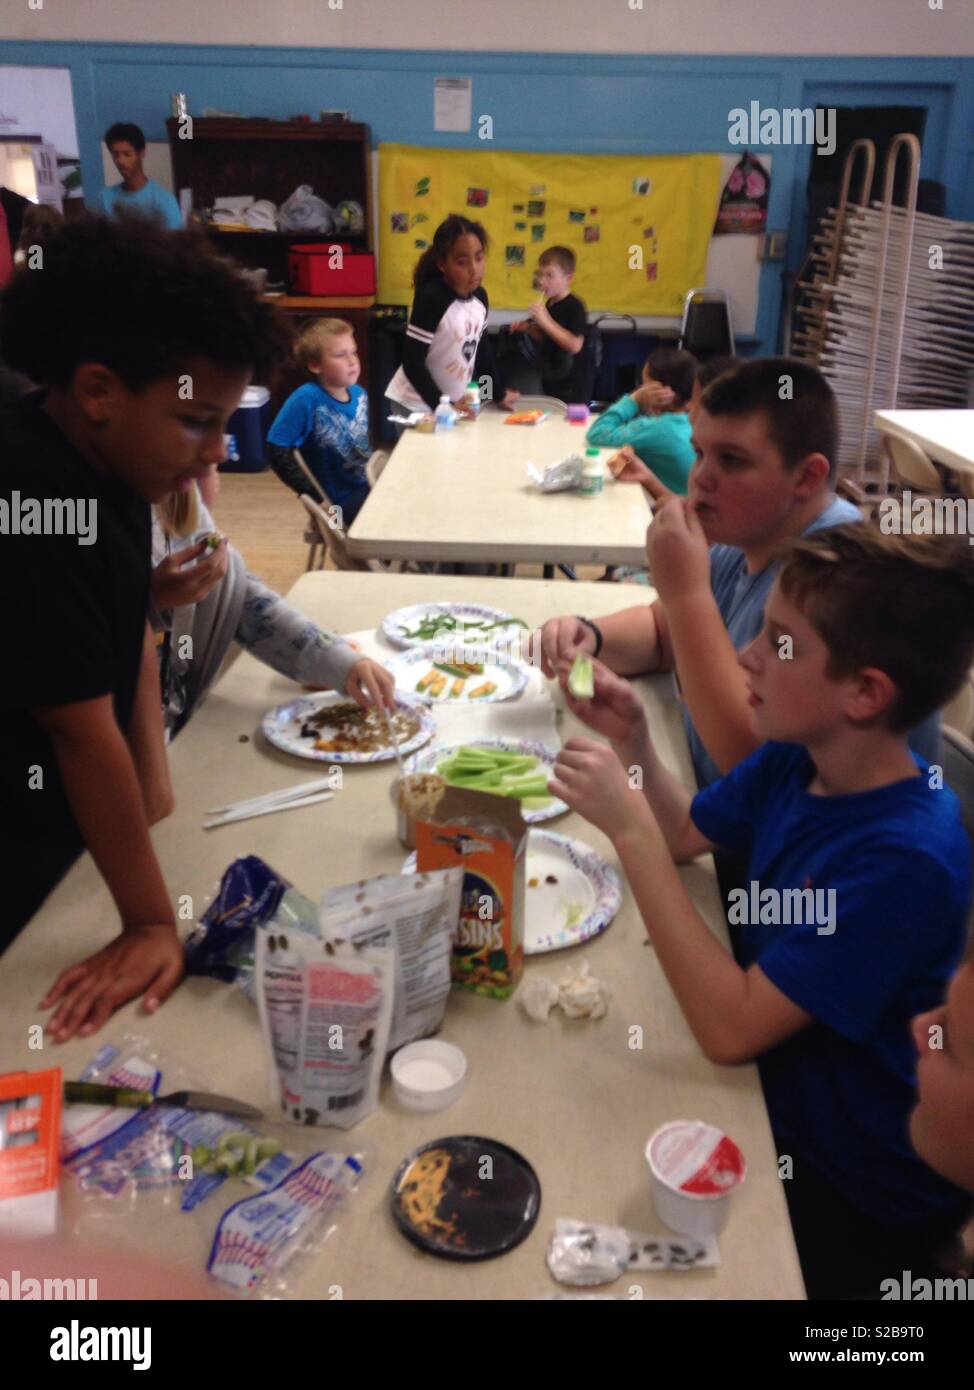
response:
[(506, 409), (518, 399), (520, 392), (504, 388), (486, 335), (489, 303), (481, 284), (486, 249), (481, 224), (459, 213), (450, 213), (434, 232), (413, 272), (415, 295), (403, 364), (386, 388), (393, 411), (431, 411), (440, 396), (449, 396), (454, 410), (470, 414), (467, 384), (485, 378), (488, 399)]

